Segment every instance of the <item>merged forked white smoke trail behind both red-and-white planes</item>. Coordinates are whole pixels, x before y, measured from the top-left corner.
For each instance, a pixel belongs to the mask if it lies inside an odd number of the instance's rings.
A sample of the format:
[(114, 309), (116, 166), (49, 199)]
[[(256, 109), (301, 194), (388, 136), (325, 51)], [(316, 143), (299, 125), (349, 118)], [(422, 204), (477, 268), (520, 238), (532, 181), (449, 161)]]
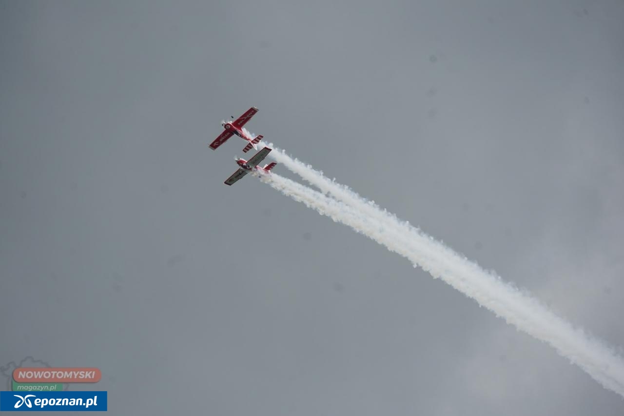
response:
[(414, 267), (420, 265), (434, 278), (441, 278), (507, 323), (547, 342), (603, 387), (624, 397), (624, 360), (603, 342), (575, 329), (529, 294), (500, 280), (499, 276), (481, 269), (347, 187), (329, 181), (322, 172), (314, 171), (281, 151), (275, 153), (273, 159), (289, 169), (292, 167), (293, 172), (344, 203), (276, 174), (262, 175), (262, 181), (401, 254), (411, 260)]

